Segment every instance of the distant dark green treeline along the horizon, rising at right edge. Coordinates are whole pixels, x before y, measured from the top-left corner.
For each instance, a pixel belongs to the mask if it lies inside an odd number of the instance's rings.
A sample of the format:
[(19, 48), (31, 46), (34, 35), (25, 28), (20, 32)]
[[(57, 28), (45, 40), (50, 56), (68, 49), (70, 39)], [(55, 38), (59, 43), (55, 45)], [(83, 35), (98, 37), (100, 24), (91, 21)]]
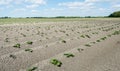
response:
[[(80, 16), (56, 16), (56, 17), (19, 17), (19, 18), (109, 18), (109, 17), (120, 17), (120, 11), (113, 12), (109, 16), (85, 16), (85, 17), (80, 17)], [(13, 18), (13, 17), (0, 17), (0, 19), (8, 19), (8, 18)]]

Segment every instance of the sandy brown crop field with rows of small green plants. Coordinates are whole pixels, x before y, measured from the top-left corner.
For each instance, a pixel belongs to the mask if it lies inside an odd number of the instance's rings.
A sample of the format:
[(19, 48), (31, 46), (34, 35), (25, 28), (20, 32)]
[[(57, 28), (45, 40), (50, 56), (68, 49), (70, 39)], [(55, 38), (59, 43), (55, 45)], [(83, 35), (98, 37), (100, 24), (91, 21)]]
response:
[(0, 71), (120, 71), (120, 19), (0, 19)]

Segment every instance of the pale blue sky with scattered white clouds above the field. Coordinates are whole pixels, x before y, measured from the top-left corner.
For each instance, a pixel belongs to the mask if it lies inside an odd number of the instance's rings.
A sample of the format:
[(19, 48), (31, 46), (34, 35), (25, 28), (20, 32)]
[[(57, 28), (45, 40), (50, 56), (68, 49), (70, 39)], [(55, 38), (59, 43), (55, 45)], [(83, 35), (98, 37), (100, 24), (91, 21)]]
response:
[(120, 0), (0, 0), (0, 17), (108, 16)]

